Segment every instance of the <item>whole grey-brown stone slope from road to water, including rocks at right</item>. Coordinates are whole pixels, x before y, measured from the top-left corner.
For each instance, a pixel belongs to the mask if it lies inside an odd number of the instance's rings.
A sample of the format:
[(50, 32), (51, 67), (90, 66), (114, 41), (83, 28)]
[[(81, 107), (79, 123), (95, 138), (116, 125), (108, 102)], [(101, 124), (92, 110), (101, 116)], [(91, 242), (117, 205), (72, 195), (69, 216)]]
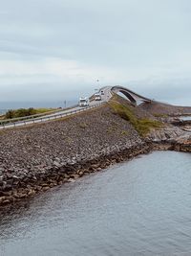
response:
[(181, 128), (168, 126), (143, 139), (109, 105), (63, 120), (4, 130), (0, 134), (0, 205), (154, 149), (191, 151), (189, 136)]

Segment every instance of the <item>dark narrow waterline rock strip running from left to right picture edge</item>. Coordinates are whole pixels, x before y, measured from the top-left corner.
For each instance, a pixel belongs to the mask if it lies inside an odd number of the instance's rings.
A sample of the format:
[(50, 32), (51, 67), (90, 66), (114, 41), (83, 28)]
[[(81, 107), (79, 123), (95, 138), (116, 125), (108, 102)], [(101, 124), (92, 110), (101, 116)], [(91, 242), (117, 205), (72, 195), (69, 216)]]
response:
[(32, 198), (39, 193), (46, 192), (55, 186), (67, 182), (74, 182), (77, 178), (84, 175), (101, 172), (117, 163), (130, 161), (141, 154), (147, 154), (153, 151), (182, 151), (191, 152), (191, 145), (180, 143), (151, 143), (145, 142), (141, 145), (111, 153), (107, 156), (89, 160), (87, 162), (76, 163), (54, 168), (49, 175), (39, 175), (36, 180), (27, 181), (25, 186), (18, 187), (10, 191), (1, 192), (0, 208), (8, 204), (20, 202), (23, 199)]

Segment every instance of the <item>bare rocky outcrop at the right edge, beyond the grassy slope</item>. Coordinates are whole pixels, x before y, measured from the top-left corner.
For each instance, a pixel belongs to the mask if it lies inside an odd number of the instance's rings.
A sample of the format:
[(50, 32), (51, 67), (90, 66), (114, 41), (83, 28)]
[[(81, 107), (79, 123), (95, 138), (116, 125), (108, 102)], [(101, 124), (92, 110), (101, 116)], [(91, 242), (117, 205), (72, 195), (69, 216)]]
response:
[(165, 125), (153, 130), (147, 137), (156, 149), (172, 151), (191, 151), (191, 121), (182, 121), (180, 116), (191, 115), (190, 106), (167, 105), (158, 102), (138, 106), (138, 110), (146, 111)]

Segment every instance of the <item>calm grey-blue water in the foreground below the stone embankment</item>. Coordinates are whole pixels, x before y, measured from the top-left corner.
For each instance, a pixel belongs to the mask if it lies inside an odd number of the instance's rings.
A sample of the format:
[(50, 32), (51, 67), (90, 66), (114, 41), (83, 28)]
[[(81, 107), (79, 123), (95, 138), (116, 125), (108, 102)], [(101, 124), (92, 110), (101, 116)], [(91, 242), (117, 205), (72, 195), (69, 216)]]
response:
[(0, 255), (191, 255), (191, 155), (156, 151), (2, 211)]

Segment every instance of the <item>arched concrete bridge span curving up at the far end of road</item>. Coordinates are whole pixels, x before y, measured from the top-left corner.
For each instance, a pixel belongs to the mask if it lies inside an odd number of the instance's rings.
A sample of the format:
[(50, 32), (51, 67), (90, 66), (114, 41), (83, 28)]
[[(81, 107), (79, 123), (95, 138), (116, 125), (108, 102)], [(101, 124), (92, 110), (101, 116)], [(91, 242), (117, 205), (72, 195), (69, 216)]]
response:
[(111, 88), (111, 91), (115, 92), (115, 93), (122, 93), (133, 105), (138, 105), (138, 102), (140, 103), (151, 103), (152, 100), (139, 95), (136, 92), (133, 92), (123, 86), (113, 86)]

